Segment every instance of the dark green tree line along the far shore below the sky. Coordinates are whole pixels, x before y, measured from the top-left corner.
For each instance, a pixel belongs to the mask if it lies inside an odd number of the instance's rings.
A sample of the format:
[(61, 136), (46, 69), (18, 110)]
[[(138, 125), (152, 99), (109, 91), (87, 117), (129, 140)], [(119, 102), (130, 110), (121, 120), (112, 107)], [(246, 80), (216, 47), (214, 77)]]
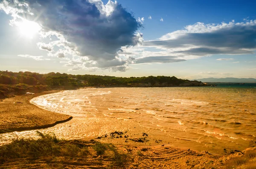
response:
[(180, 85), (189, 80), (178, 79), (175, 76), (148, 76), (148, 77), (115, 77), (100, 75), (72, 75), (67, 73), (40, 74), (34, 72), (0, 71), (0, 84), (16, 85), (47, 85), (49, 87), (86, 87), (86, 86), (113, 86), (139, 84), (166, 84)]

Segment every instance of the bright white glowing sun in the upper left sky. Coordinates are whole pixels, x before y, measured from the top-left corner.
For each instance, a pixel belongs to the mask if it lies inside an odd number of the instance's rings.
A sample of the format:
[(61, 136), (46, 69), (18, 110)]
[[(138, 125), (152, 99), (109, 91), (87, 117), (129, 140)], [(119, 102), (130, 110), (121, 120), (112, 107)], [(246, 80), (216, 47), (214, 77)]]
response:
[(41, 26), (38, 25), (38, 23), (23, 20), (23, 22), (18, 22), (17, 26), (20, 30), (20, 34), (27, 37), (27, 38), (33, 38), (33, 36), (40, 31)]

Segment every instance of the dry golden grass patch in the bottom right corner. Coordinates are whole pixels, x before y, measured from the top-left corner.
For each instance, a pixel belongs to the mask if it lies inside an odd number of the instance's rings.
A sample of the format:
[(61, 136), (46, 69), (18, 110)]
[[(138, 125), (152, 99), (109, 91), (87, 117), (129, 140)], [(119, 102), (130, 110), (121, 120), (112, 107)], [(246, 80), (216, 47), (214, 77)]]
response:
[(256, 169), (256, 150), (249, 150), (243, 156), (233, 158), (226, 164), (226, 169), (236, 169), (238, 167), (243, 169)]

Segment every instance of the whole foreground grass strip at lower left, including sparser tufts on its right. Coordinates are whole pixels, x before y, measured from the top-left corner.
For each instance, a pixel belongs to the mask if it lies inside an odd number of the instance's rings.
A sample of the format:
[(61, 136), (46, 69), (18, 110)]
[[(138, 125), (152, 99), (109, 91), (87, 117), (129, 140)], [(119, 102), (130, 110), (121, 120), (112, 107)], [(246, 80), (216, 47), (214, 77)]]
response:
[(15, 138), (10, 144), (0, 146), (0, 164), (20, 158), (54, 161), (56, 157), (60, 159), (64, 157), (68, 159), (81, 158), (86, 161), (96, 154), (100, 161), (107, 158), (111, 168), (116, 168), (124, 166), (129, 159), (127, 154), (116, 149), (113, 144), (103, 144), (94, 140), (67, 141), (58, 139), (54, 133), (37, 133), (40, 136), (39, 139)]

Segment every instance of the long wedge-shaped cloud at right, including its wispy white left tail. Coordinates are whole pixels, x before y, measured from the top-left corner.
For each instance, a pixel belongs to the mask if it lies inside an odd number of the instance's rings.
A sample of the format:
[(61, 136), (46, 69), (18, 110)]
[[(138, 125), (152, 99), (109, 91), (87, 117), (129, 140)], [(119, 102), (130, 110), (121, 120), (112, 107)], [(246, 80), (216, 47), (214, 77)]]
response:
[(196, 23), (186, 26), (184, 30), (163, 35), (159, 39), (144, 41), (141, 46), (122, 48), (119, 56), (132, 57), (134, 60), (131, 64), (138, 64), (169, 63), (170, 59), (172, 62), (185, 61), (214, 54), (253, 54), (256, 50), (253, 39), (256, 32), (253, 30), (256, 30), (256, 20), (247, 23), (235, 23), (234, 20), (221, 24)]

